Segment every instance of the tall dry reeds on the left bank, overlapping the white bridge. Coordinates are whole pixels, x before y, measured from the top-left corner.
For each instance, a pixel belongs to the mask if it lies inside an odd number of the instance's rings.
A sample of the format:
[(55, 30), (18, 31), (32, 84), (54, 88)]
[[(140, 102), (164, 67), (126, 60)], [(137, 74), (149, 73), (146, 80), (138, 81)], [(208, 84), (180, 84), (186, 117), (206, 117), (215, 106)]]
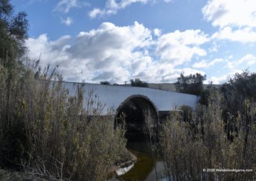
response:
[(125, 130), (114, 129), (111, 112), (100, 116), (104, 105), (93, 92), (84, 98), (78, 86), (69, 96), (56, 69), (38, 62), (12, 78), (0, 69), (0, 166), (35, 178), (106, 180), (125, 150)]

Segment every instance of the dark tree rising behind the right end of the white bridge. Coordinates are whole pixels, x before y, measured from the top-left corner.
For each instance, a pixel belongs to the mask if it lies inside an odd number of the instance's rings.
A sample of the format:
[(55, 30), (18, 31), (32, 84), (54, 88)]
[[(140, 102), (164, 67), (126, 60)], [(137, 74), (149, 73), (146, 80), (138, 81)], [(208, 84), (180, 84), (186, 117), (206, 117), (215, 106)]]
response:
[(195, 94), (199, 96), (204, 90), (203, 82), (206, 79), (206, 75), (196, 73), (195, 75), (184, 76), (182, 73), (175, 82), (175, 87), (178, 92), (186, 94)]

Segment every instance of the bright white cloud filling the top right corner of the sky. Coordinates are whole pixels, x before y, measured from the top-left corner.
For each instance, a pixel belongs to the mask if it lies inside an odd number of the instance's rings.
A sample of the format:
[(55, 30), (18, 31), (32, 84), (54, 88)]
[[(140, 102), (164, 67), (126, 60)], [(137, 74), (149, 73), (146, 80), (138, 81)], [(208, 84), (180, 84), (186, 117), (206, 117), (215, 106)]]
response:
[(256, 27), (255, 0), (209, 0), (202, 8), (204, 18), (214, 26)]

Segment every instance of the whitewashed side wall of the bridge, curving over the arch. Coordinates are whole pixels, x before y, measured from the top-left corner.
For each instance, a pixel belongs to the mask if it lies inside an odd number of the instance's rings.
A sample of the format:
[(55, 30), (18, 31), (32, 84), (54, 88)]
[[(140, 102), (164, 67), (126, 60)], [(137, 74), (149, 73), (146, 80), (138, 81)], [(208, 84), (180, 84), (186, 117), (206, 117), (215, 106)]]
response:
[[(63, 85), (70, 91), (70, 95), (76, 93), (77, 85), (81, 83), (63, 82)], [(93, 91), (96, 98), (106, 107), (102, 114), (108, 113), (110, 108), (116, 110), (130, 96), (140, 94), (146, 96), (159, 112), (174, 110), (175, 106), (188, 105), (195, 110), (198, 103), (198, 96), (182, 94), (179, 92), (162, 91), (158, 89), (149, 89), (145, 87), (125, 87), (118, 85), (99, 85), (84, 83), (85, 95)]]

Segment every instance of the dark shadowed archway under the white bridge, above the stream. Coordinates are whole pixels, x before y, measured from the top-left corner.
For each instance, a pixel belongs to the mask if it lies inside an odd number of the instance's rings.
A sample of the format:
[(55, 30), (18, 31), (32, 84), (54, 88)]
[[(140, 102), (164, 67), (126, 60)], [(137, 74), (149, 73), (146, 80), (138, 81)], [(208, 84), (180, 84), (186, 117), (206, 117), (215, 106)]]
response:
[(143, 126), (145, 125), (145, 112), (150, 112), (151, 117), (158, 122), (158, 110), (154, 103), (140, 94), (129, 96), (116, 109), (115, 126), (122, 123), (122, 115), (125, 117), (125, 136), (128, 141), (144, 139)]

